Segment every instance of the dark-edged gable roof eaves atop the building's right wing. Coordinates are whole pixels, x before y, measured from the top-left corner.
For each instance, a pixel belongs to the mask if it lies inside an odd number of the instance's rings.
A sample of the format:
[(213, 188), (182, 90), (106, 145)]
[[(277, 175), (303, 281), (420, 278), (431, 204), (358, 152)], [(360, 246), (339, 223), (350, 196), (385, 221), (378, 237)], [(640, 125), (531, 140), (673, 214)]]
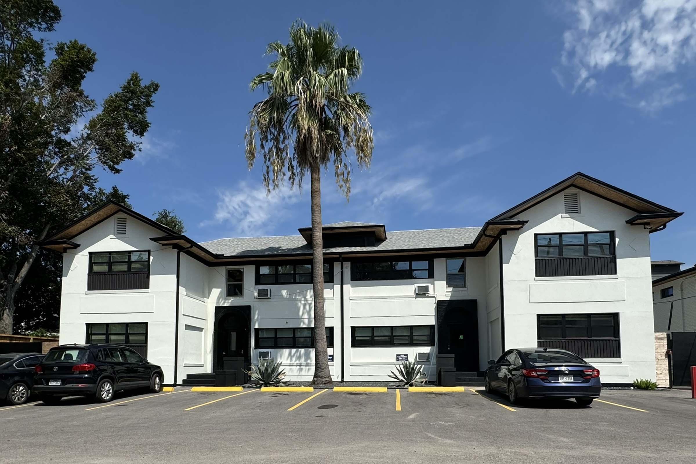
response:
[(635, 211), (637, 214), (633, 216), (633, 218), (628, 219), (626, 223), (631, 225), (647, 225), (651, 229), (651, 232), (655, 232), (658, 227), (664, 228), (663, 226), (666, 226), (668, 222), (683, 214), (623, 189), (619, 189), (617, 186), (595, 179), (585, 173), (578, 172), (548, 187), (548, 189), (537, 193), (531, 198), (524, 200), (507, 211), (498, 214), (498, 216), (491, 219), (491, 221), (514, 218), (569, 187), (592, 193), (600, 198)]

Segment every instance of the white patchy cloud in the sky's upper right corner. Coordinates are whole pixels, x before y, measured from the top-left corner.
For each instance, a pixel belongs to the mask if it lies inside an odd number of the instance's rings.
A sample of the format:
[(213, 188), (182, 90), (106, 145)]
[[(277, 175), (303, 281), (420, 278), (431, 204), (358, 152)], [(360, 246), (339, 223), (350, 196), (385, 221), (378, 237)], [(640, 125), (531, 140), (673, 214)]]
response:
[(616, 88), (631, 87), (622, 90), (626, 98), (640, 102), (646, 91), (654, 92), (652, 86), (669, 88), (681, 67), (694, 64), (695, 0), (578, 0), (571, 11), (575, 25), (563, 35), (561, 63), (571, 74), (574, 93), (603, 86), (615, 94)]

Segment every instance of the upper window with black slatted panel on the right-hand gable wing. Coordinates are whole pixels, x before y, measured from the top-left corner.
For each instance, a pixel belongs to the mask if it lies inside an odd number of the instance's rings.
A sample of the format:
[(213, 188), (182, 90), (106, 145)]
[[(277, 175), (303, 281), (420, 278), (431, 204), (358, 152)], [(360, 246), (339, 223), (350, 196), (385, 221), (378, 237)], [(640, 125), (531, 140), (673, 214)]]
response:
[(616, 274), (614, 232), (535, 234), (537, 277)]

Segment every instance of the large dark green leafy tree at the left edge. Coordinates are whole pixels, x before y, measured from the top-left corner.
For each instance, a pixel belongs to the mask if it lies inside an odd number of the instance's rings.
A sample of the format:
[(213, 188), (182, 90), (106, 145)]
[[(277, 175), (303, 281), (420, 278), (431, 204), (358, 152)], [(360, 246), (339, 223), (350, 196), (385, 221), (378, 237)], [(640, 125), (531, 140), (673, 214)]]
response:
[(134, 72), (97, 104), (82, 89), (97, 61), (89, 47), (57, 42), (46, 62), (40, 35), (60, 20), (51, 0), (0, 2), (0, 333), (13, 330), (38, 243), (100, 194), (94, 169), (120, 173), (140, 150), (159, 88)]

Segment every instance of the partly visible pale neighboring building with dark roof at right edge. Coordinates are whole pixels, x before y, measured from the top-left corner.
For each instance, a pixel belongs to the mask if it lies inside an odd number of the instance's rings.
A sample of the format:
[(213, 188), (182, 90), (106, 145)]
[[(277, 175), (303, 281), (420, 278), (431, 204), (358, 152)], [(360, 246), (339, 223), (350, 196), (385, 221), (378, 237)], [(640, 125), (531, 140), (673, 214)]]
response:
[(652, 285), (655, 331), (696, 332), (696, 266), (665, 275)]

